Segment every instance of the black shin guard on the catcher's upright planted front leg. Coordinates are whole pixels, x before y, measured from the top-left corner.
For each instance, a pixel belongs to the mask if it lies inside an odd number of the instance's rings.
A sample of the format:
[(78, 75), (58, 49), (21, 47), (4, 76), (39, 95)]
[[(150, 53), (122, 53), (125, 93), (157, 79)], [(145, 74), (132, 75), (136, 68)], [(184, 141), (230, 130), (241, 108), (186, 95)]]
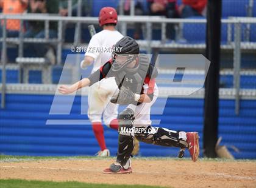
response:
[(133, 111), (131, 109), (125, 109), (118, 115), (119, 121), (119, 136), (118, 136), (118, 152), (116, 162), (125, 167), (127, 161), (132, 153), (133, 143)]

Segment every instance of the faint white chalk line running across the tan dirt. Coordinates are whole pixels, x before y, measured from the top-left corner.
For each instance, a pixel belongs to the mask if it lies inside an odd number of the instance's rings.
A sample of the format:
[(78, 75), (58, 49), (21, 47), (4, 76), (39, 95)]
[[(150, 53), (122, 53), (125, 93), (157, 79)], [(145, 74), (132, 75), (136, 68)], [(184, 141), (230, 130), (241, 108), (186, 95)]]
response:
[[(11, 169), (46, 169), (46, 170), (73, 170), (73, 171), (85, 171), (85, 172), (102, 172), (102, 170), (95, 170), (95, 169), (73, 169), (73, 168), (57, 168), (57, 167), (26, 167), (26, 166), (0, 166), (1, 169), (4, 168), (11, 168)], [(175, 172), (140, 172), (135, 171), (133, 173), (137, 174), (149, 174), (149, 175), (188, 175), (188, 173), (175, 173)], [(238, 175), (229, 175), (226, 173), (218, 173), (218, 172), (202, 172), (202, 173), (193, 173), (191, 175), (207, 175), (207, 176), (215, 176), (218, 178), (232, 178), (236, 180), (256, 180), (255, 177), (248, 177), (248, 176), (238, 176)]]

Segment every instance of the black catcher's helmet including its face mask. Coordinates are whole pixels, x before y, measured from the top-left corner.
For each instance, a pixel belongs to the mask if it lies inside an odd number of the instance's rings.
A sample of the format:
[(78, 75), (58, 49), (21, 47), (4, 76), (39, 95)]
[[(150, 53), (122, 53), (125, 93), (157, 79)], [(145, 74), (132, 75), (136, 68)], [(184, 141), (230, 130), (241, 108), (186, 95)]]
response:
[(112, 52), (113, 71), (119, 71), (126, 67), (127, 64), (137, 58), (140, 53), (140, 47), (135, 39), (125, 36), (116, 42)]

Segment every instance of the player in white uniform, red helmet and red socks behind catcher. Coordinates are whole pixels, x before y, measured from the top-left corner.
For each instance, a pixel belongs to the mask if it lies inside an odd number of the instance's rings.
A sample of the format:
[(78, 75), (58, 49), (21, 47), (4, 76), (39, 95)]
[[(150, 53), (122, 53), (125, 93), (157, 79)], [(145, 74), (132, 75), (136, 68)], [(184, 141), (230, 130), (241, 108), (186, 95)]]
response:
[[(113, 45), (123, 38), (123, 35), (115, 29), (117, 22), (118, 16), (115, 8), (104, 7), (101, 9), (99, 12), (99, 25), (103, 30), (92, 36), (85, 53), (85, 58), (80, 64), (82, 69), (86, 69), (88, 65), (93, 63), (91, 73), (94, 73), (111, 58)], [(115, 79), (107, 78), (93, 84), (88, 92), (88, 118), (91, 121), (94, 135), (101, 148), (97, 153), (98, 156), (110, 156), (104, 139), (102, 115), (105, 125), (118, 130), (116, 120), (118, 104), (110, 102), (110, 98), (116, 89), (118, 87), (116, 86)]]

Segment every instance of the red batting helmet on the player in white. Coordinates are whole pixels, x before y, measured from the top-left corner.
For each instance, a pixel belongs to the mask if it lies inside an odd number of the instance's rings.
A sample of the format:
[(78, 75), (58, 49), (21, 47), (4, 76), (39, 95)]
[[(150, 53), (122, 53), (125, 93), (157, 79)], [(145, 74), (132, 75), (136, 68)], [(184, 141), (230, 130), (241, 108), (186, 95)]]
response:
[(99, 12), (99, 26), (104, 24), (116, 24), (117, 12), (113, 7), (103, 7)]

